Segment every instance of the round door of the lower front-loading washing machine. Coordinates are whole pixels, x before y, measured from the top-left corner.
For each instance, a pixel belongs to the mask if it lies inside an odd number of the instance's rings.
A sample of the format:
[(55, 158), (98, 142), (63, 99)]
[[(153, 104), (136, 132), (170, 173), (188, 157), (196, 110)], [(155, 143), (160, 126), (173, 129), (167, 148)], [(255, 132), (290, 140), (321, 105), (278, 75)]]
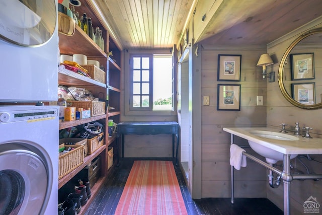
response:
[(42, 214), (48, 176), (43, 160), (24, 149), (0, 145), (0, 214)]

